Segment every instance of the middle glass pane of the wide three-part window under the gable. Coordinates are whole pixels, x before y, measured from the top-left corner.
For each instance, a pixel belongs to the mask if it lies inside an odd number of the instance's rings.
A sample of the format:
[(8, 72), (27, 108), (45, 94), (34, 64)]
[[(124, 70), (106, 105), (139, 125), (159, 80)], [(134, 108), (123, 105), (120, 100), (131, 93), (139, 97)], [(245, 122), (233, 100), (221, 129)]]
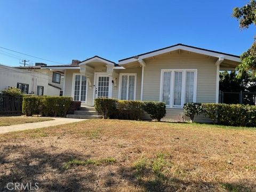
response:
[(181, 86), (182, 86), (182, 72), (174, 73), (174, 94), (173, 94), (173, 105), (181, 105)]

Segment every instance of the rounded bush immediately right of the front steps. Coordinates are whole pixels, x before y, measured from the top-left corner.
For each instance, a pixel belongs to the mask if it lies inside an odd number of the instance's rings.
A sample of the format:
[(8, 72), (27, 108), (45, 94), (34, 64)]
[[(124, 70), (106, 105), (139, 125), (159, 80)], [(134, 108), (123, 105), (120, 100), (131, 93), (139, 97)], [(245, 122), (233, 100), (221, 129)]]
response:
[(116, 102), (116, 99), (98, 98), (94, 100), (94, 107), (106, 119), (116, 113)]

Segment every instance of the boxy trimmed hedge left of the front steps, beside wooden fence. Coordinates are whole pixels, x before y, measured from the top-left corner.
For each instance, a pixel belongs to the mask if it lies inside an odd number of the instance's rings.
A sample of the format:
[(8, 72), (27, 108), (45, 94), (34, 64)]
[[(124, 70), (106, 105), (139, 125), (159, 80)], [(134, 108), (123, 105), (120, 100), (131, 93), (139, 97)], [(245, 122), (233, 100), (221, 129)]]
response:
[(71, 97), (59, 96), (23, 97), (22, 113), (27, 116), (41, 114), (43, 116), (65, 117), (72, 100)]

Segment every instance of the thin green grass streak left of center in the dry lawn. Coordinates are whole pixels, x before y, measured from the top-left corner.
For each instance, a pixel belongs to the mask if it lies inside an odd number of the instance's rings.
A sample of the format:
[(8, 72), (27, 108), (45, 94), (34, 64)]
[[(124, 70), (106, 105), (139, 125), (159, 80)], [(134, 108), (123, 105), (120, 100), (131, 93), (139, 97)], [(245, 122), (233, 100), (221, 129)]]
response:
[(71, 159), (69, 162), (65, 163), (63, 165), (63, 169), (67, 170), (71, 166), (85, 166), (85, 165), (103, 165), (103, 164), (114, 164), (116, 162), (116, 159), (113, 157), (108, 158), (102, 158), (102, 159), (86, 159), (84, 161), (78, 160), (78, 159)]

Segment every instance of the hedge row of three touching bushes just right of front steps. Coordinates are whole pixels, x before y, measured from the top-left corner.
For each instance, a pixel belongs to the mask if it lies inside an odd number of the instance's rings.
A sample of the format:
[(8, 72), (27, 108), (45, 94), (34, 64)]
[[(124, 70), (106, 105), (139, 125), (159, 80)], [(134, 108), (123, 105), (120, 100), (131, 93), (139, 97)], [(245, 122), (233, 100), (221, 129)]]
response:
[(103, 118), (140, 120), (146, 111), (151, 118), (160, 121), (166, 114), (163, 102), (98, 98), (94, 100), (94, 107)]

